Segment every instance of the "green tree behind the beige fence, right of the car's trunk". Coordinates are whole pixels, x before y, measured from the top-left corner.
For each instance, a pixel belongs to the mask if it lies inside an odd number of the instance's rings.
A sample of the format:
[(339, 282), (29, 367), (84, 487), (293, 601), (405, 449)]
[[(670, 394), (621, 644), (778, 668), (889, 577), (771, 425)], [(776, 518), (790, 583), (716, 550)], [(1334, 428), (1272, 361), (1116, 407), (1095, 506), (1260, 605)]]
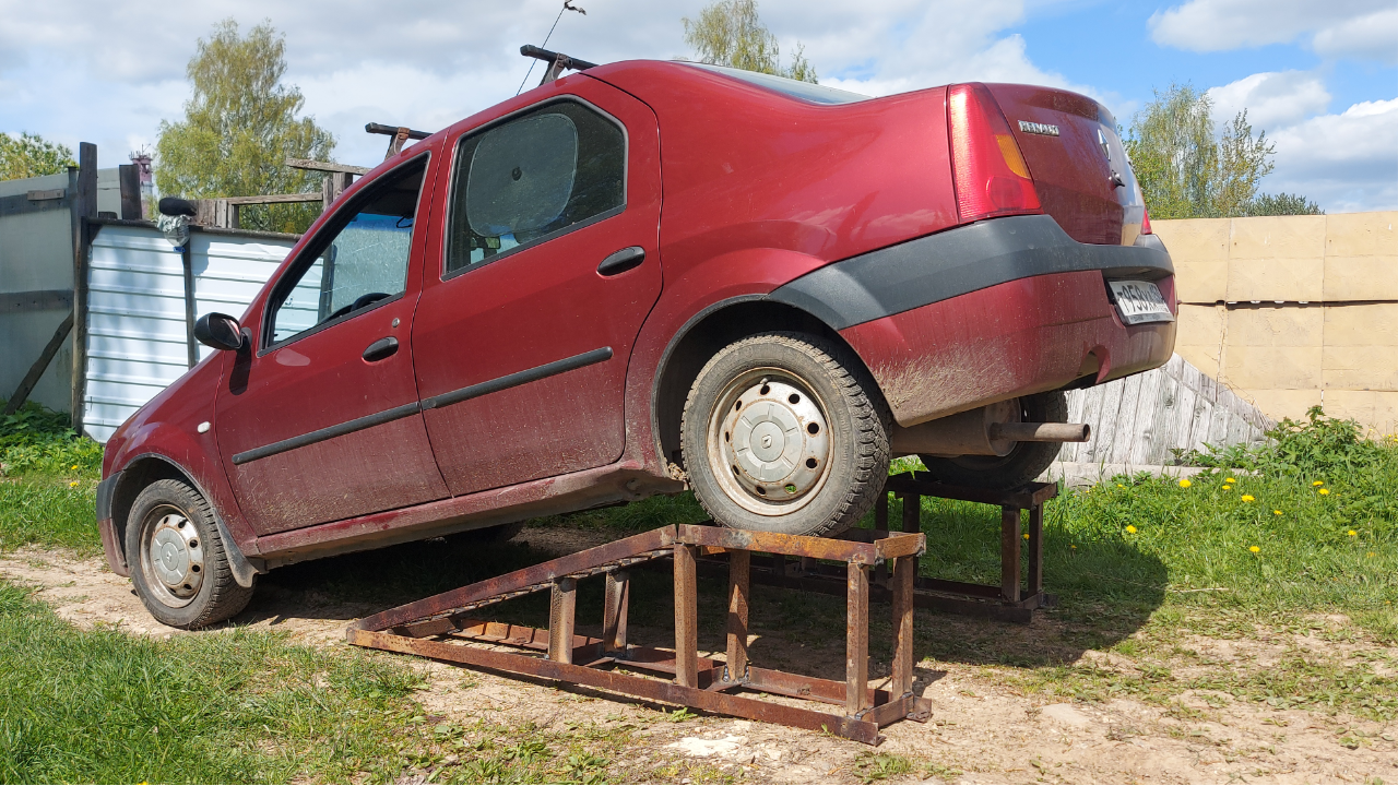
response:
[(1246, 109), (1216, 133), (1213, 102), (1190, 84), (1156, 91), (1132, 119), (1125, 147), (1152, 218), (1262, 215), (1258, 210), (1297, 204), (1320, 210), (1304, 197), (1278, 201), (1260, 194), (1276, 147), (1267, 140), (1267, 131), (1253, 133)]

